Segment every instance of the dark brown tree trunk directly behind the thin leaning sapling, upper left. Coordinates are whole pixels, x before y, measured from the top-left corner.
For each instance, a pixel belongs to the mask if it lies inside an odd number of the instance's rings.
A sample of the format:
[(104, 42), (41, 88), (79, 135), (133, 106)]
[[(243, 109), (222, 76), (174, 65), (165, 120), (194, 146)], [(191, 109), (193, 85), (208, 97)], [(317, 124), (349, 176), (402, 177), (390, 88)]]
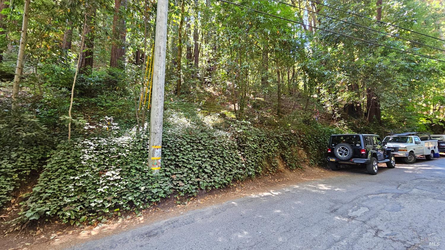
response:
[(94, 26), (96, 23), (96, 7), (89, 6), (85, 26), (84, 49), (81, 55), (79, 74), (90, 75), (93, 71), (94, 59)]

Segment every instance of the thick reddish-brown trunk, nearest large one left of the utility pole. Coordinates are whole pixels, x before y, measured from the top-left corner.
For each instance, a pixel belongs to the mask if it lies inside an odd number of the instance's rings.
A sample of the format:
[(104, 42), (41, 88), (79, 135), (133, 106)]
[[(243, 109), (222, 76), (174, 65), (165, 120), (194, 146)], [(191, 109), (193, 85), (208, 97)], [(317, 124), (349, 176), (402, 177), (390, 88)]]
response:
[[(113, 42), (111, 45), (110, 67), (125, 67), (125, 11), (127, 0), (114, 0)], [(121, 9), (122, 7), (122, 9)]]

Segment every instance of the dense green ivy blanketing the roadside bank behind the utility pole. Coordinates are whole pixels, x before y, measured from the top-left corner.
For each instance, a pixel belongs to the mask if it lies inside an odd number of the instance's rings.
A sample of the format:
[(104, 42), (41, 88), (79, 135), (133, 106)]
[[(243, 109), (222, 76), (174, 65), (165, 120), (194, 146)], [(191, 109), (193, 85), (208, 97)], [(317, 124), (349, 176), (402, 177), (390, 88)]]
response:
[[(309, 144), (311, 152), (322, 147), (317, 143), (326, 143), (321, 137), (329, 138), (331, 130), (320, 131), (321, 126)], [(163, 133), (162, 170), (154, 175), (147, 161), (147, 135), (128, 131), (59, 144), (24, 203), (24, 219), (102, 221), (115, 210), (141, 210), (171, 194), (193, 196), (198, 190), (275, 172), (280, 158), (291, 169), (301, 161), (301, 134), (290, 129), (265, 130), (237, 122), (221, 131), (171, 115)]]

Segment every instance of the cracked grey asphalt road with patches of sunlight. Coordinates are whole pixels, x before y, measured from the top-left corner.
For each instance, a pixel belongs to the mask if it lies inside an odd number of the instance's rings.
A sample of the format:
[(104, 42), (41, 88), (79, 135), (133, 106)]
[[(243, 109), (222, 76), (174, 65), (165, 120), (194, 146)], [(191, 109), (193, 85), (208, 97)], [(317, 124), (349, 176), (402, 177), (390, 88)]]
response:
[(445, 249), (445, 158), (191, 211), (71, 249)]

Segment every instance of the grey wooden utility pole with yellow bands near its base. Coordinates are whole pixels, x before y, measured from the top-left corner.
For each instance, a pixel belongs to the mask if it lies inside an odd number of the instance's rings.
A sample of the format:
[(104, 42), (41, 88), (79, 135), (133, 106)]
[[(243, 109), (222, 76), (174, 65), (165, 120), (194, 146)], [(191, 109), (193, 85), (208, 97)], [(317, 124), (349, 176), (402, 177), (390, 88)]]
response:
[(153, 91), (150, 110), (150, 167), (161, 168), (162, 118), (164, 115), (164, 82), (166, 73), (168, 0), (158, 0), (154, 38)]

